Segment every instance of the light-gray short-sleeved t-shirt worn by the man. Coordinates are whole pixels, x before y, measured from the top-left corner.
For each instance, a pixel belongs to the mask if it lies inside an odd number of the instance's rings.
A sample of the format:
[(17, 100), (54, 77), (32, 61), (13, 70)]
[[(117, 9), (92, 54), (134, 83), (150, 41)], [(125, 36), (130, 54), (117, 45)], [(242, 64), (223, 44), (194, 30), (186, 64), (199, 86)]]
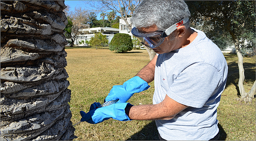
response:
[[(193, 29), (193, 28), (192, 28)], [(189, 106), (171, 120), (156, 120), (166, 140), (209, 140), (218, 132), (217, 107), (228, 74), (226, 60), (217, 45), (202, 31), (184, 48), (158, 54), (153, 104), (167, 94)]]

